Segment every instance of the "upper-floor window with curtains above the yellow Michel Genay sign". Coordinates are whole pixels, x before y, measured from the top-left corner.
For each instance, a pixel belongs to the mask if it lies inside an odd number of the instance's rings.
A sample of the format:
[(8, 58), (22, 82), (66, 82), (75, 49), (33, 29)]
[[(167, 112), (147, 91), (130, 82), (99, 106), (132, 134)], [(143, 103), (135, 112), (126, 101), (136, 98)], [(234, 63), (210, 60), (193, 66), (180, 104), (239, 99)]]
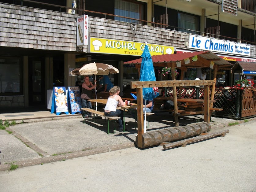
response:
[[(115, 0), (115, 15), (144, 20), (144, 5), (135, 2)], [(137, 20), (122, 17), (115, 17), (115, 20), (138, 24), (141, 23)]]

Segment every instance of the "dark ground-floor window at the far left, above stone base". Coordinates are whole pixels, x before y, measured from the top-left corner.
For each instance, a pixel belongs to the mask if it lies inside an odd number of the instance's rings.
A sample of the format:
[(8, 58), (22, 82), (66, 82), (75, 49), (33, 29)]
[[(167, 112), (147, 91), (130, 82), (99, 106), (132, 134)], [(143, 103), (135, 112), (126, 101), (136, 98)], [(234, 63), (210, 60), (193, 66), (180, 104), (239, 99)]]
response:
[(21, 57), (0, 57), (0, 95), (22, 94)]

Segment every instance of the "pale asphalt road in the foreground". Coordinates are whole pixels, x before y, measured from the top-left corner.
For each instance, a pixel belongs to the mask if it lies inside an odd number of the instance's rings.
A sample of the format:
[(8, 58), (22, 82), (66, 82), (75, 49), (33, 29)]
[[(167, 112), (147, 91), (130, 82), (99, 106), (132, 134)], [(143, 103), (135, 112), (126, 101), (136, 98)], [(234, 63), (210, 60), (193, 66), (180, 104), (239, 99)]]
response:
[(0, 191), (256, 191), (255, 125), (224, 127), (225, 137), (187, 147), (133, 147), (3, 171)]

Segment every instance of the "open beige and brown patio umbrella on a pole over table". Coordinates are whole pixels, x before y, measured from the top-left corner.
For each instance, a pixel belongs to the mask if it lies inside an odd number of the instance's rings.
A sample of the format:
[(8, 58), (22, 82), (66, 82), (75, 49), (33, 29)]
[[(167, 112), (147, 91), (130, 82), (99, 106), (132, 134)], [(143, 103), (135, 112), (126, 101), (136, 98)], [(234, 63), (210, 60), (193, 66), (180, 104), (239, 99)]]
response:
[[(108, 75), (119, 73), (118, 69), (113, 67), (112, 65), (108, 65), (105, 63), (88, 63), (83, 65), (80, 68), (76, 68), (70, 72), (72, 76), (76, 75)], [(95, 88), (95, 98), (97, 99), (97, 90)], [(96, 110), (97, 110), (97, 103), (96, 103)]]

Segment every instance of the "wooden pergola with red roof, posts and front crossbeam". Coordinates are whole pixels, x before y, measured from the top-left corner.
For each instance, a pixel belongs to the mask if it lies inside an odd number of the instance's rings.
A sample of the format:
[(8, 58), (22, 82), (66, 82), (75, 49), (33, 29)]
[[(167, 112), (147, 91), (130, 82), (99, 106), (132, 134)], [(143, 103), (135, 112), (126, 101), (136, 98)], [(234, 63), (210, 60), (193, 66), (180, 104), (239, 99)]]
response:
[[(173, 87), (173, 93), (176, 93), (176, 87), (182, 89), (183, 86), (204, 86), (204, 121), (210, 123), (210, 108), (213, 107), (213, 103), (210, 103), (210, 100), (213, 100), (214, 94), (211, 94), (210, 98), (210, 88), (215, 90), (216, 76), (217, 71), (220, 68), (226, 68), (232, 66), (228, 61), (220, 58), (211, 51), (199, 51), (192, 53), (182, 53), (182, 54), (165, 54), (165, 55), (154, 55), (152, 56), (152, 61), (154, 66), (161, 67), (171, 67), (172, 70), (172, 80), (170, 81), (132, 81), (131, 88), (137, 89), (137, 113), (138, 113), (138, 143), (139, 147), (142, 146), (142, 135), (144, 133), (143, 126), (143, 96), (142, 88), (147, 87)], [(135, 64), (136, 68), (140, 71), (142, 59), (136, 59), (133, 61), (124, 62), (124, 64)], [(184, 72), (187, 71), (187, 68), (202, 68), (210, 67), (214, 70), (213, 80), (183, 80)], [(181, 69), (180, 79), (176, 80), (175, 78), (175, 68)], [(179, 98), (181, 97), (181, 91), (179, 93)], [(179, 126), (178, 121), (178, 104), (177, 104), (177, 95), (173, 94), (174, 102), (174, 120), (175, 126)]]

